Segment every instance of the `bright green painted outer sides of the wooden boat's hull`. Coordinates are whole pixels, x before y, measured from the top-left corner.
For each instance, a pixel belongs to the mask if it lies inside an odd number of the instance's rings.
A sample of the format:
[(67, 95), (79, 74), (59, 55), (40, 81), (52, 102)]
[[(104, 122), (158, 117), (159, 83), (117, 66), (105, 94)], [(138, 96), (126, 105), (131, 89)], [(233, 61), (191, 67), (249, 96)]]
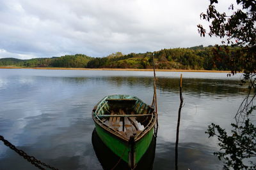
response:
[[(125, 162), (127, 162), (127, 164), (129, 164), (129, 152), (131, 152), (131, 146), (129, 145), (129, 143), (109, 133), (108, 131), (100, 127), (100, 125), (98, 125), (97, 123), (95, 123), (95, 128), (97, 134), (99, 135), (100, 139), (102, 139), (102, 141), (105, 143), (105, 145), (108, 146), (108, 148), (113, 153), (118, 155), (118, 157), (121, 157)], [(150, 131), (148, 131), (147, 134), (143, 136), (143, 138), (135, 142), (135, 164), (138, 164), (141, 157), (147, 151), (148, 146), (152, 141), (153, 134), (154, 128), (150, 129)]]

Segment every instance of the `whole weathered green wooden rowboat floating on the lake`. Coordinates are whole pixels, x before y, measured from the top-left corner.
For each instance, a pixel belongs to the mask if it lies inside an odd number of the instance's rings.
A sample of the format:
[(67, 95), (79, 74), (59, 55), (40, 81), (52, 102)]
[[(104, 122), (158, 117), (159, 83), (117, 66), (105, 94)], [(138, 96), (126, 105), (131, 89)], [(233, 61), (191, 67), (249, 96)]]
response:
[(92, 118), (105, 145), (135, 167), (154, 135), (154, 109), (134, 96), (106, 96), (93, 108)]

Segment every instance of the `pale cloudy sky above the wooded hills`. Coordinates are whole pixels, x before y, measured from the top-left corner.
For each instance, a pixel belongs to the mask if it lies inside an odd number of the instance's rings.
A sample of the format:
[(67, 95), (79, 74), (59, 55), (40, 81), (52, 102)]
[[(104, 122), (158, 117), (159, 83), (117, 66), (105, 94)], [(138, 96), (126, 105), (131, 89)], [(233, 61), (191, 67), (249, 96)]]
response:
[[(232, 0), (221, 0), (220, 10)], [(0, 0), (0, 58), (152, 52), (220, 44), (197, 24), (209, 0)]]

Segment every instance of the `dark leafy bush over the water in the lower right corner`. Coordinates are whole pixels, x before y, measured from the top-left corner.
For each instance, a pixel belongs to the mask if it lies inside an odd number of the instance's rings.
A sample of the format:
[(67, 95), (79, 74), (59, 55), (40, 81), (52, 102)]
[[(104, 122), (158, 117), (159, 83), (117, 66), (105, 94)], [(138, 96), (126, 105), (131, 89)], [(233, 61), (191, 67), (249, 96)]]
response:
[[(254, 108), (255, 109), (255, 108)], [(209, 137), (216, 136), (219, 140), (220, 150), (214, 152), (218, 159), (225, 163), (224, 169), (256, 169), (256, 164), (248, 160), (256, 156), (256, 127), (247, 119), (243, 125), (232, 124), (233, 130), (230, 135), (220, 125), (211, 124), (208, 127)], [(217, 132), (216, 132), (217, 131)], [(247, 164), (250, 162), (251, 164)]]

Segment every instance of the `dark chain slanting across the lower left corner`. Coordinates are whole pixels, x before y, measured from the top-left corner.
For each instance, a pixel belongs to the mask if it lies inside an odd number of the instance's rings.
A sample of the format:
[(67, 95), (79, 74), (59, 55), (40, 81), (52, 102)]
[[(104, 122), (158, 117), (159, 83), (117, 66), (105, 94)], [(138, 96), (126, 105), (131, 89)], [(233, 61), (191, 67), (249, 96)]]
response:
[[(23, 150), (19, 150), (16, 148), (16, 146), (12, 145), (9, 141), (4, 139), (3, 136), (0, 135), (0, 141), (3, 141), (4, 145), (8, 146), (12, 150), (14, 150), (16, 153), (18, 153), (20, 156), (22, 156), (24, 159), (28, 160), (31, 164), (38, 167), (38, 169), (45, 169), (44, 167), (48, 167), (49, 169), (58, 170), (55, 167), (49, 166), (45, 164), (44, 162), (41, 162), (40, 160), (36, 159), (33, 156), (29, 156), (27, 153), (25, 153)], [(42, 167), (43, 166), (43, 167)]]

